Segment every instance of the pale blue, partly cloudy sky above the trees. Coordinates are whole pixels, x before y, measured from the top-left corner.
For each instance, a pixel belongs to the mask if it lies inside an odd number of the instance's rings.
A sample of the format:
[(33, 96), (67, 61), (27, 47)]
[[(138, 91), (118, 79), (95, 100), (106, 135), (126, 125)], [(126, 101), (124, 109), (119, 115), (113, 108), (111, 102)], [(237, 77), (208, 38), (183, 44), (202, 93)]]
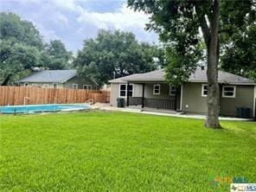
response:
[(0, 0), (0, 11), (33, 22), (45, 42), (59, 39), (74, 53), (99, 29), (120, 29), (140, 42), (158, 42), (157, 34), (144, 30), (149, 16), (127, 8), (126, 0)]

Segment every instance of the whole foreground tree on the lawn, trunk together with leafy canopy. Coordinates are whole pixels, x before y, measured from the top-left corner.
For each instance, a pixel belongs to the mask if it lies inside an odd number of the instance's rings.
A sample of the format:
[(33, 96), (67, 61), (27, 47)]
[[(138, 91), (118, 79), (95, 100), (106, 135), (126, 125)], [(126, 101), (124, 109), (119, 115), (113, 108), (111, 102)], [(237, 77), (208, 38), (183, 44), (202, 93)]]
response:
[[(229, 2), (221, 0), (128, 0), (128, 5), (134, 10), (143, 10), (150, 15), (147, 29), (157, 31), (160, 40), (166, 44), (167, 60), (170, 60), (166, 67), (167, 80), (180, 81), (180, 83), (188, 80), (189, 75), (195, 71), (198, 62), (202, 59), (202, 39), (204, 40), (208, 77), (208, 112), (205, 125), (211, 128), (221, 126), (217, 82), (220, 45), (222, 45), (219, 33), (223, 27), (227, 26), (226, 22), (230, 22), (228, 11), (225, 15), (226, 20), (223, 19), (225, 16), (221, 15)], [(235, 8), (238, 13), (241, 13), (240, 16), (237, 14), (239, 18), (245, 17), (248, 10), (253, 10), (253, 0), (239, 1), (239, 3)], [(244, 7), (248, 8), (247, 12), (240, 12)]]

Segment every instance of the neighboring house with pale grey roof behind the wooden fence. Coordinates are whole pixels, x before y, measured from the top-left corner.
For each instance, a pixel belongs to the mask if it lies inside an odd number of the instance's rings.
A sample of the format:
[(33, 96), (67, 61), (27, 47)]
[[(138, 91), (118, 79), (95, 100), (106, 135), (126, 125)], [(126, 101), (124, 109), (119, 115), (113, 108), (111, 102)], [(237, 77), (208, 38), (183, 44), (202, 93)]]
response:
[(44, 88), (98, 89), (94, 80), (82, 79), (77, 70), (42, 70), (18, 80), (20, 86), (39, 86)]

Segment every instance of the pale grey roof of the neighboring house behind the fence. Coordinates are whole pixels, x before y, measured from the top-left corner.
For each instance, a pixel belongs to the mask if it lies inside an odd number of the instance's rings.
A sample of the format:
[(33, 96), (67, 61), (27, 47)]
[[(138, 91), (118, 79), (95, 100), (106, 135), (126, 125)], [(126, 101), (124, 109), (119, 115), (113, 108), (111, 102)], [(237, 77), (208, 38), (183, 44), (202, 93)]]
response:
[(70, 80), (77, 75), (75, 69), (70, 70), (43, 70), (36, 72), (35, 74), (30, 74), (27, 77), (18, 80), (18, 82), (58, 82), (63, 83)]

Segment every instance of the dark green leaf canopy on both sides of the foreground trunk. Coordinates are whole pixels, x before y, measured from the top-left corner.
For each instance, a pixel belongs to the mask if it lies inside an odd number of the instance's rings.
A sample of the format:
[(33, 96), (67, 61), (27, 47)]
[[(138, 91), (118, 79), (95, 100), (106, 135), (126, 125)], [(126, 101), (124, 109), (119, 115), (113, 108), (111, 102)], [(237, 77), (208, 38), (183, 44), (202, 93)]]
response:
[[(150, 14), (146, 29), (155, 30), (165, 43), (167, 80), (170, 83), (180, 84), (188, 80), (198, 65), (207, 62), (203, 57), (207, 46), (202, 46), (205, 43), (202, 30), (207, 29), (211, 22), (213, 1), (128, 0), (128, 5)], [(220, 6), (218, 67), (255, 79), (256, 3), (253, 0), (223, 0)]]

